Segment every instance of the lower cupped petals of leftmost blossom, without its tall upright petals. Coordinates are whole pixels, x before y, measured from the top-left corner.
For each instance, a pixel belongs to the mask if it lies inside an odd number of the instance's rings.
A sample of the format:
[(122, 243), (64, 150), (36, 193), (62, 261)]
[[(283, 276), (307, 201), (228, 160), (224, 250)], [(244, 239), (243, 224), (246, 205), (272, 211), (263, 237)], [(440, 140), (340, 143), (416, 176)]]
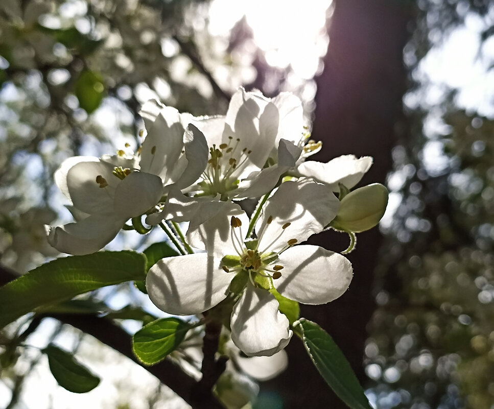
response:
[(67, 207), (76, 222), (46, 226), (48, 242), (74, 255), (103, 248), (129, 218), (153, 207), (163, 190), (156, 175), (88, 156), (65, 160), (55, 173), (55, 181), (70, 201)]

